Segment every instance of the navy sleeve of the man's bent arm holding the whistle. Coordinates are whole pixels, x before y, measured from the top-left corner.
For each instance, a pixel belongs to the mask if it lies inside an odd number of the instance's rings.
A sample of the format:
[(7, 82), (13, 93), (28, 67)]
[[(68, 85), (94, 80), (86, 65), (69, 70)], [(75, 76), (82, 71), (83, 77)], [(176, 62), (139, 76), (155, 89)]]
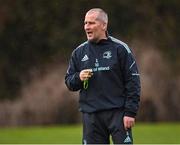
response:
[(78, 91), (82, 88), (82, 81), (79, 77), (78, 59), (76, 58), (75, 51), (73, 51), (65, 75), (65, 84), (70, 91)]

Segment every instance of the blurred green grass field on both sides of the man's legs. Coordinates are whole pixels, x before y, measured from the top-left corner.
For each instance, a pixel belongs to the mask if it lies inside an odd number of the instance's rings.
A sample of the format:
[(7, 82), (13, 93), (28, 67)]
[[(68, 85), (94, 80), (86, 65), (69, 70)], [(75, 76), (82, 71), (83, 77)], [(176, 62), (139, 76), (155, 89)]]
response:
[[(0, 144), (81, 144), (81, 125), (0, 128)], [(180, 144), (180, 123), (136, 124), (135, 144)]]

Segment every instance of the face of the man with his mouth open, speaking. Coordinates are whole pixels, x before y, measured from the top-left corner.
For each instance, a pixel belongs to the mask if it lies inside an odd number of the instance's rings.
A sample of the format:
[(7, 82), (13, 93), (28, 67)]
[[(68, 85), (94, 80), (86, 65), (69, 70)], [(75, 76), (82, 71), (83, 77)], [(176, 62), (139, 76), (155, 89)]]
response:
[(89, 41), (98, 42), (105, 38), (105, 23), (97, 19), (98, 13), (87, 13), (84, 20), (84, 30)]

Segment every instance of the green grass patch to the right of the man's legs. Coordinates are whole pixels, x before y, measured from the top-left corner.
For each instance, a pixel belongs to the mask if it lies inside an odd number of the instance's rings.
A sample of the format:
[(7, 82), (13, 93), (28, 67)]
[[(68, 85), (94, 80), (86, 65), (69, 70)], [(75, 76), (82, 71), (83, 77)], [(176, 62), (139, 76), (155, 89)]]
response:
[(179, 144), (180, 123), (136, 124), (133, 135), (136, 144)]

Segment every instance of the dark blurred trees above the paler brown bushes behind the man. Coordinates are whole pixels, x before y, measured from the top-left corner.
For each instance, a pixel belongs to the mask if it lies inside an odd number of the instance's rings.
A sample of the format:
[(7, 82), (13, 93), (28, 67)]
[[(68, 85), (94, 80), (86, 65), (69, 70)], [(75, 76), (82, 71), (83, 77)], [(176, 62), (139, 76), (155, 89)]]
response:
[(83, 19), (92, 7), (107, 11), (110, 34), (155, 43), (178, 75), (179, 0), (1, 0), (0, 98), (17, 97), (32, 68), (56, 59), (67, 63), (86, 40)]

